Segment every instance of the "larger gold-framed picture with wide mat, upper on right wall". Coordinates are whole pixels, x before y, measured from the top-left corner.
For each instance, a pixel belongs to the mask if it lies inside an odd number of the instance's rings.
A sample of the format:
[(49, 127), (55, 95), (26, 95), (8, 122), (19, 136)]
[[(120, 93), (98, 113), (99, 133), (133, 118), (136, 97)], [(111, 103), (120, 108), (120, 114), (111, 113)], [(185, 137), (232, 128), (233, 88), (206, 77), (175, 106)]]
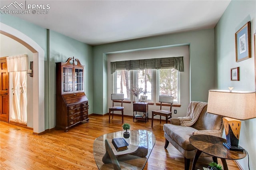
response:
[(236, 62), (251, 57), (251, 22), (247, 22), (236, 34)]

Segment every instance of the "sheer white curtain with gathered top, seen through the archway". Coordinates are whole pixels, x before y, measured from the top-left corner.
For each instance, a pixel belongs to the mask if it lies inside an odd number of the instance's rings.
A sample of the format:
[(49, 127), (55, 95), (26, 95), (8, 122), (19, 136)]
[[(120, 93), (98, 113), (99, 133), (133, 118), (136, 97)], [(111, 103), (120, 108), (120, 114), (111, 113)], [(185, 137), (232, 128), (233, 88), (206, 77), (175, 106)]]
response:
[[(28, 71), (28, 55), (15, 55), (6, 57), (7, 69), (12, 74), (12, 108), (11, 120), (26, 123), (27, 122), (27, 97), (26, 84)], [(20, 87), (19, 87), (20, 86)], [(19, 93), (20, 89), (20, 93)]]

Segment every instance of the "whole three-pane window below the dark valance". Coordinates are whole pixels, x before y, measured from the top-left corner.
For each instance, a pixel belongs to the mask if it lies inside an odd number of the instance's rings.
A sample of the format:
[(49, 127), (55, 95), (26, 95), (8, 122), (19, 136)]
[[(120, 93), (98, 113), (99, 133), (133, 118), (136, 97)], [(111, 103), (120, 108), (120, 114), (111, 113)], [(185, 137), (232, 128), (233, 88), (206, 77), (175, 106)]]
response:
[[(153, 72), (156, 74), (155, 79)], [(176, 69), (117, 70), (114, 77), (114, 92), (124, 93), (125, 100), (134, 100), (129, 89), (138, 86), (146, 92), (149, 102), (158, 102), (158, 95), (172, 95), (174, 102), (179, 103), (179, 77)], [(156, 94), (154, 87), (157, 87)]]

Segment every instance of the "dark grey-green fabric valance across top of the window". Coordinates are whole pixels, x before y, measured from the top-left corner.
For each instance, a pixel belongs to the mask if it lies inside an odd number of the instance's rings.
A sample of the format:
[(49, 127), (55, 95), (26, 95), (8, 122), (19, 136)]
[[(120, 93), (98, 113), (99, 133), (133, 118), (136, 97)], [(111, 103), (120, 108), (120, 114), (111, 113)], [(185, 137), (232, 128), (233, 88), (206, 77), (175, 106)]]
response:
[(116, 70), (170, 69), (184, 71), (183, 57), (139, 59), (111, 62), (111, 74)]

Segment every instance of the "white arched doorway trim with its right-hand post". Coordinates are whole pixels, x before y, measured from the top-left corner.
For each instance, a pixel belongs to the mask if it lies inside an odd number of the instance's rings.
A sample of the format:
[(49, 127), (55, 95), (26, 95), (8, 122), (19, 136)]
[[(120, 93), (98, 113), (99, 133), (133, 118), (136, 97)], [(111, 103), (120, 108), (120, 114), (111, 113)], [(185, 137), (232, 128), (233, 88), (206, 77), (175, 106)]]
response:
[(44, 50), (22, 32), (0, 23), (0, 34), (4, 34), (27, 47), (33, 53), (33, 134), (44, 132)]

